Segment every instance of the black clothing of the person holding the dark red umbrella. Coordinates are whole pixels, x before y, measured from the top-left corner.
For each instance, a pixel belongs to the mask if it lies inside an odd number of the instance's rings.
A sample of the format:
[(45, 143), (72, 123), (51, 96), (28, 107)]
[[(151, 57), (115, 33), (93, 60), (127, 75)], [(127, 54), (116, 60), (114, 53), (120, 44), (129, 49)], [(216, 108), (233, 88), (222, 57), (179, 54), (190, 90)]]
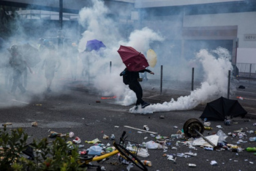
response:
[[(126, 71), (127, 71), (127, 68), (125, 68), (124, 71), (120, 73), (120, 76), (124, 75)], [(140, 82), (138, 82), (138, 79), (140, 78), (139, 73), (144, 73), (145, 71), (148, 73), (151, 73), (151, 70), (148, 70), (148, 69), (144, 69), (140, 71), (129, 71), (129, 76), (130, 76), (129, 88), (130, 90), (133, 90), (136, 94), (136, 97), (137, 97), (136, 106), (144, 103), (144, 101), (142, 100), (143, 90), (141, 88)]]

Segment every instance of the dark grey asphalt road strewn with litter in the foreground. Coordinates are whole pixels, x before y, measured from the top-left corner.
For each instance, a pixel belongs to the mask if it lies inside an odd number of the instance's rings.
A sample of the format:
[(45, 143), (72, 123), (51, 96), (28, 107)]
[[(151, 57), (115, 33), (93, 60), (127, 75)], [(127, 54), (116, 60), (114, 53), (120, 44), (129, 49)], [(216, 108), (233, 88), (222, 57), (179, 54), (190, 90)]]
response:
[[(149, 88), (152, 85), (149, 85)], [(188, 86), (189, 87), (189, 86)], [(146, 89), (146, 88), (145, 88)], [(156, 89), (154, 89), (157, 91)], [(152, 98), (147, 95), (145, 90), (145, 98), (151, 99), (152, 102), (164, 101), (168, 97), (168, 93), (158, 96), (157, 93)], [(168, 92), (167, 90), (164, 90)], [(184, 90), (189, 92), (189, 90)], [(181, 94), (186, 94), (186, 93)], [(4, 93), (1, 93), (3, 97)], [(31, 96), (31, 95), (27, 95)], [(175, 95), (173, 95), (175, 96)], [(178, 95), (176, 95), (178, 96)], [(134, 128), (143, 129), (143, 125), (148, 125), (149, 131), (156, 132), (161, 136), (170, 137), (171, 134), (176, 134), (178, 129), (182, 129), (184, 123), (190, 118), (198, 118), (201, 115), (200, 107), (198, 109), (189, 111), (170, 111), (170, 112), (156, 112), (154, 114), (131, 114), (129, 109), (132, 106), (121, 106), (116, 104), (116, 99), (100, 99), (100, 94), (94, 90), (77, 91), (70, 89), (63, 89), (61, 93), (51, 92), (42, 95), (32, 95), (31, 101), (26, 101), (24, 98), (9, 97), (1, 98), (1, 125), (2, 123), (11, 122), (8, 128), (23, 127), (25, 132), (31, 135), (29, 141), (32, 139), (42, 139), (50, 135), (49, 131), (56, 131), (58, 133), (69, 133), (72, 131), (75, 136), (80, 137), (81, 144), (85, 145), (85, 149), (89, 148), (91, 144), (86, 144), (85, 140), (94, 140), (99, 138), (103, 144), (112, 143), (113, 140), (103, 139), (104, 134), (111, 136), (115, 134), (116, 138), (121, 136), (122, 131), (126, 131), (129, 140), (138, 142), (148, 142), (154, 140), (149, 133), (138, 133), (136, 129), (125, 128), (124, 125), (132, 126)], [(4, 100), (3, 100), (4, 99)], [(15, 100), (16, 101), (15, 101)], [(6, 104), (13, 104), (12, 107)], [(249, 105), (250, 106), (250, 105)], [(164, 116), (164, 118), (160, 118)], [(235, 118), (230, 126), (224, 125), (223, 122), (211, 122), (212, 131), (204, 131), (205, 136), (213, 134), (213, 132), (220, 129), (225, 133), (234, 133), (234, 131), (243, 128), (244, 131), (254, 130), (256, 123), (254, 117), (252, 118)], [(249, 120), (249, 122), (244, 122)], [(31, 126), (31, 122), (38, 122), (38, 126)], [(242, 121), (242, 122), (240, 122)], [(222, 128), (217, 128), (221, 125)], [(178, 128), (174, 128), (177, 126)], [(256, 134), (246, 133), (243, 138), (242, 148), (256, 147), (256, 142), (249, 142), (249, 137), (256, 136)], [(52, 140), (49, 138), (49, 140)], [(73, 140), (70, 138), (69, 140)], [(236, 144), (239, 137), (228, 136), (226, 141), (230, 144)], [(173, 139), (171, 146), (176, 147), (176, 142), (179, 140)], [(255, 170), (255, 155), (243, 150), (241, 153), (232, 151), (207, 151), (203, 148), (196, 147), (197, 150), (190, 149), (181, 143), (177, 150), (167, 151), (162, 149), (148, 150), (148, 158), (140, 158), (151, 161), (152, 166), (148, 170)], [(164, 154), (177, 154), (192, 151), (197, 153), (197, 156), (190, 158), (176, 158), (176, 164), (169, 161)], [(105, 161), (101, 166), (105, 166), (107, 170), (127, 170), (126, 166), (118, 164), (112, 165), (116, 161), (115, 157)], [(212, 166), (211, 161), (216, 161), (217, 166)], [(196, 164), (196, 167), (189, 167), (188, 164)], [(97, 164), (97, 163), (96, 163)], [(95, 170), (95, 169), (89, 169)], [(133, 167), (132, 170), (138, 170)]]

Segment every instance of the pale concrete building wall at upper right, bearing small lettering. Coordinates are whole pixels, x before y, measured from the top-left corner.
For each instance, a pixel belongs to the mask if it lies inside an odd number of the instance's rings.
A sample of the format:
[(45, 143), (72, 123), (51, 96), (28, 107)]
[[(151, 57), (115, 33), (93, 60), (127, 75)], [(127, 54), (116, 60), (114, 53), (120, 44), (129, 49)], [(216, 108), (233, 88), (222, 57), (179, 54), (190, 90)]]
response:
[(256, 64), (256, 38), (252, 40), (245, 38), (246, 35), (256, 34), (255, 16), (256, 12), (189, 15), (184, 16), (183, 26), (238, 26), (239, 43), (236, 62)]

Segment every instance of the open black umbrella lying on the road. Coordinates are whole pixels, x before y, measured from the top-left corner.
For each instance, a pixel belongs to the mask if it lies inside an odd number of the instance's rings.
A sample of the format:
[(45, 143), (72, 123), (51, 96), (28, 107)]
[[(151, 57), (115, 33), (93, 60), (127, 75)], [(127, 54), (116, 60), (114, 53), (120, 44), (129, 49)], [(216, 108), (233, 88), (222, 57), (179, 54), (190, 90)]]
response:
[(241, 116), (242, 118), (247, 114), (246, 110), (241, 106), (238, 100), (230, 100), (220, 97), (217, 100), (211, 101), (206, 104), (203, 114), (200, 118), (203, 120), (222, 120), (228, 116), (230, 118)]

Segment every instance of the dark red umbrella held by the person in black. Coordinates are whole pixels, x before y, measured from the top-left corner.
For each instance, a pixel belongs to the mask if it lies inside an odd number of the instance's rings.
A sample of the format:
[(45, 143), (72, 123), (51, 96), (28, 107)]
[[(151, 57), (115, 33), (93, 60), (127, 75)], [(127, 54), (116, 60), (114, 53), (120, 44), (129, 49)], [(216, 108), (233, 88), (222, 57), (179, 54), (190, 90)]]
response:
[(146, 57), (130, 46), (121, 45), (118, 53), (129, 71), (140, 71), (149, 66)]

